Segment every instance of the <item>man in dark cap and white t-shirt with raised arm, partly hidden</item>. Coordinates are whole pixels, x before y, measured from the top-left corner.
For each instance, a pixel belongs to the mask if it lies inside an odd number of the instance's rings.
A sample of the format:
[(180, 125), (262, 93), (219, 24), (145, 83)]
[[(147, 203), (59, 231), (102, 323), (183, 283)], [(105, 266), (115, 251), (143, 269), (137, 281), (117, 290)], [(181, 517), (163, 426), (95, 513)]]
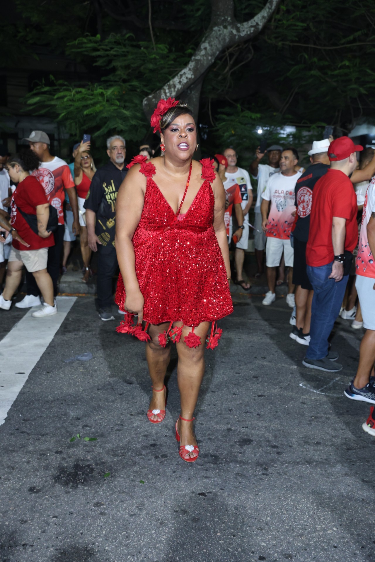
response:
[[(267, 153), (268, 156), (268, 164), (259, 164), (265, 153)], [(264, 248), (266, 243), (266, 236), (261, 228), (261, 195), (265, 190), (265, 185), (268, 181), (268, 178), (280, 171), (279, 164), (281, 153), (282, 147), (279, 146), (279, 144), (273, 144), (272, 146), (268, 147), (265, 152), (260, 152), (260, 147), (257, 147), (255, 152), (255, 160), (250, 164), (250, 173), (252, 177), (257, 180), (254, 219), (254, 226), (256, 228), (256, 230), (254, 230), (254, 245), (257, 264), (257, 272), (255, 274), (255, 277), (260, 277), (261, 275), (263, 275)]]

